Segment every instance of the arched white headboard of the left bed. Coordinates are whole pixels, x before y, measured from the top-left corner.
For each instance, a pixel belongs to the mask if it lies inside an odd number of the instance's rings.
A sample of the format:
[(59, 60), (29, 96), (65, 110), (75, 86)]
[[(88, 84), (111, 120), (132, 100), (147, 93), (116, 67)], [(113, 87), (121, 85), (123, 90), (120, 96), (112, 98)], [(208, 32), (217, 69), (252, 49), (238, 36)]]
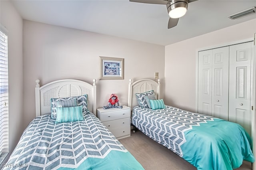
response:
[(40, 80), (36, 80), (36, 116), (49, 114), (51, 111), (51, 98), (63, 98), (88, 95), (88, 110), (96, 115), (96, 79), (93, 84), (75, 79), (57, 80), (40, 87)]

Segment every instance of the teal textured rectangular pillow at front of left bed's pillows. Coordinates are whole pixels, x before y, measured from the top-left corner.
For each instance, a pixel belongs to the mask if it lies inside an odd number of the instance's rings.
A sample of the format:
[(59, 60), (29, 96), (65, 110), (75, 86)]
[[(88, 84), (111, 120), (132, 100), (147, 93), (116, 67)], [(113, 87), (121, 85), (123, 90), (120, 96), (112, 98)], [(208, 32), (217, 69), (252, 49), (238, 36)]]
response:
[(83, 121), (83, 106), (75, 107), (57, 107), (56, 108), (56, 123)]

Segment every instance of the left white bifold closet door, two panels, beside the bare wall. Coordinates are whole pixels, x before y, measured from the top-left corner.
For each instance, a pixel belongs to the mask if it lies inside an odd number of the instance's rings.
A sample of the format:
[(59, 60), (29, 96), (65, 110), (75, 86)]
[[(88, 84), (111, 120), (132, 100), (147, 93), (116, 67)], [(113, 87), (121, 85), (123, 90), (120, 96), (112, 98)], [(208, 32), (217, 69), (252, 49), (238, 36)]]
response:
[(198, 53), (198, 113), (228, 120), (229, 47)]

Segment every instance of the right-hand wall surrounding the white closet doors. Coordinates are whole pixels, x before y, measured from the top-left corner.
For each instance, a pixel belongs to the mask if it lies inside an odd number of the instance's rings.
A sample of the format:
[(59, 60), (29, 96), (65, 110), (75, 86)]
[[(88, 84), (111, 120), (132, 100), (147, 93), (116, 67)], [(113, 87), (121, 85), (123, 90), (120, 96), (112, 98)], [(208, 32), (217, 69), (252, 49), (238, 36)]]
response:
[(196, 108), (196, 51), (253, 38), (256, 19), (165, 47), (165, 102), (188, 111)]

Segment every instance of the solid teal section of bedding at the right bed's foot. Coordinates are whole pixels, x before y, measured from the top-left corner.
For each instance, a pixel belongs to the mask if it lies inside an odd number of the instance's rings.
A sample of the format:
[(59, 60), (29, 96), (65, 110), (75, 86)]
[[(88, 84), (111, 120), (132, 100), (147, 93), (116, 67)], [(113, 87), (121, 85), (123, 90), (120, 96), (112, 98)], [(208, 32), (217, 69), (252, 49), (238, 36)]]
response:
[(198, 170), (232, 170), (243, 160), (254, 162), (250, 136), (236, 123), (214, 119), (184, 134), (187, 142), (181, 146), (183, 158)]

